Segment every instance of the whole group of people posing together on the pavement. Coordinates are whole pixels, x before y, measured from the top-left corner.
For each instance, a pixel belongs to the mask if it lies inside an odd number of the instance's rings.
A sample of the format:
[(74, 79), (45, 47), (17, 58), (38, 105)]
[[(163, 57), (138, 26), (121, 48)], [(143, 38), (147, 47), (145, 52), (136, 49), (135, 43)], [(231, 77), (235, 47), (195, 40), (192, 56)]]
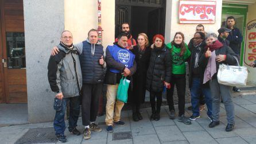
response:
[[(184, 34), (181, 32), (177, 32), (169, 44), (165, 44), (164, 36), (156, 34), (153, 44), (150, 45), (145, 33), (138, 34), (137, 43), (131, 36), (129, 24), (124, 23), (122, 33), (118, 35), (114, 45), (107, 46), (106, 52), (102, 45), (97, 44), (97, 30), (91, 29), (87, 40), (74, 45), (72, 33), (65, 30), (61, 33), (60, 44), (53, 48), (48, 64), (51, 89), (55, 92), (57, 100), (62, 103), (61, 110), (56, 110), (53, 123), (57, 139), (59, 142), (67, 141), (64, 135), (67, 103), (70, 104), (69, 133), (80, 135), (76, 129), (80, 101), (84, 139), (91, 138), (91, 131), (102, 131), (95, 121), (103, 83), (107, 84), (107, 132), (113, 132), (114, 124), (124, 125), (125, 122), (121, 121), (124, 103), (116, 99), (119, 81), (123, 76), (131, 80), (129, 99), (133, 107), (134, 121), (143, 119), (140, 105), (145, 101), (146, 89), (150, 92), (150, 119), (160, 119), (163, 91), (166, 91), (170, 119), (175, 119), (173, 93), (176, 85), (179, 122), (191, 124), (191, 120), (200, 118), (200, 101), (205, 101), (207, 115), (211, 120), (209, 127), (217, 126), (222, 99), (228, 120), (226, 131), (233, 130), (235, 121), (232, 87), (219, 84), (216, 75), (219, 64), (237, 65), (239, 60), (239, 53), (235, 53), (239, 50), (235, 51), (230, 47), (231, 44), (239, 45), (242, 41), (242, 35), (234, 28), (234, 24), (235, 18), (228, 17), (228, 27), (220, 28), (219, 36), (215, 33), (205, 33), (204, 26), (197, 25), (196, 33), (188, 45), (184, 42)], [(238, 46), (234, 46), (234, 49), (236, 48)], [(190, 118), (185, 116), (185, 62), (189, 64), (188, 81), (193, 112)], [(104, 69), (107, 69), (106, 73)], [(202, 98), (204, 100), (200, 100)]]

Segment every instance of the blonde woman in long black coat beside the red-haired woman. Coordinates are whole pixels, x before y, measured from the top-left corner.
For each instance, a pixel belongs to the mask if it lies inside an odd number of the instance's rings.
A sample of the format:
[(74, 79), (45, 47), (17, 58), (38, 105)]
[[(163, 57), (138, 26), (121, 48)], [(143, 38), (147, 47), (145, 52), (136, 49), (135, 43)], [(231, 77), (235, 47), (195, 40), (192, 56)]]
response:
[(133, 75), (133, 92), (131, 104), (133, 106), (133, 120), (137, 122), (143, 119), (139, 112), (139, 106), (145, 101), (146, 72), (149, 67), (150, 48), (148, 36), (145, 33), (138, 34), (138, 45), (130, 49), (135, 55), (137, 71)]

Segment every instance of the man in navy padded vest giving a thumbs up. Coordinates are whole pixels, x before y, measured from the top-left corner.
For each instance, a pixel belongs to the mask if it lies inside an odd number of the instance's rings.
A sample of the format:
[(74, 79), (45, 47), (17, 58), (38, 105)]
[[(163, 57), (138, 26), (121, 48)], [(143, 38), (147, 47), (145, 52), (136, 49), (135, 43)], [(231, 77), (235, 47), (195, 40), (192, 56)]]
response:
[[(102, 94), (104, 71), (103, 46), (97, 44), (98, 32), (91, 29), (87, 40), (75, 44), (79, 51), (83, 76), (82, 87), (82, 122), (84, 139), (91, 138), (91, 130), (100, 132), (102, 129), (95, 123), (99, 108), (99, 97)], [(54, 48), (55, 49), (55, 48)], [(57, 52), (57, 50), (56, 50)]]

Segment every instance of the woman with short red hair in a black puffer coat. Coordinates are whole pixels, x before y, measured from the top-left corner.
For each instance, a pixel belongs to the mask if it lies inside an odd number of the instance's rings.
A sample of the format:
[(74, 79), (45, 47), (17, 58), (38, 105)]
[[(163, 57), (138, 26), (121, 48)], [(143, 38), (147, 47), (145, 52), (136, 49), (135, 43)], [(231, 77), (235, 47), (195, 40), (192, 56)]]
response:
[[(152, 108), (150, 119), (159, 120), (162, 91), (164, 87), (170, 87), (172, 63), (170, 50), (166, 49), (164, 37), (161, 34), (156, 34), (156, 36), (153, 37), (153, 45), (147, 72), (146, 88), (150, 92), (150, 104)], [(155, 102), (156, 97), (157, 106)]]

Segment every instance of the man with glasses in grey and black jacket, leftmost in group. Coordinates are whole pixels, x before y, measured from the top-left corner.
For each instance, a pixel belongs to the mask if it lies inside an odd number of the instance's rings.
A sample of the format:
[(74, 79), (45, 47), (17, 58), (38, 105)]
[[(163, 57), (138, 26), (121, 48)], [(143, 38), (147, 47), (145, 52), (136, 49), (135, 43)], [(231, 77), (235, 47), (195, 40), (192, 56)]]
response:
[(65, 131), (65, 110), (67, 103), (70, 103), (68, 118), (68, 131), (73, 135), (80, 135), (76, 129), (77, 119), (80, 113), (80, 91), (82, 89), (82, 72), (79, 62), (77, 48), (73, 46), (72, 33), (65, 30), (61, 34), (60, 50), (55, 56), (51, 56), (48, 63), (48, 80), (53, 92), (55, 102), (60, 103), (56, 109), (53, 122), (55, 134), (59, 142), (66, 142)]

